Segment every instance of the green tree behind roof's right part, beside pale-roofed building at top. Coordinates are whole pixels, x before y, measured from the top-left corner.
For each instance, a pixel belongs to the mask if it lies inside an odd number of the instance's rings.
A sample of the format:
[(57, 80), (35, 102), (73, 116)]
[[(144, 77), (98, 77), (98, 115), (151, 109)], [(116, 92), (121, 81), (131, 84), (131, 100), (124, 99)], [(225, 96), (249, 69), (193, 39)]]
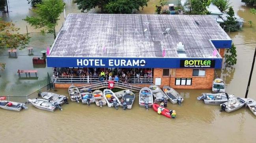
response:
[(209, 14), (207, 7), (211, 4), (211, 0), (187, 0), (185, 7), (191, 10), (191, 14)]

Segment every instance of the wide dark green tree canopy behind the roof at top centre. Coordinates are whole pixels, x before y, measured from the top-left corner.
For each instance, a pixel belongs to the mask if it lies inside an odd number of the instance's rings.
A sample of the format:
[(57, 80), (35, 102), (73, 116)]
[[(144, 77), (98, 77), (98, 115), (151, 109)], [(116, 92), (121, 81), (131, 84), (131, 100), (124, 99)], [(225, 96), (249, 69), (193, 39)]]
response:
[(133, 10), (143, 9), (149, 0), (74, 0), (82, 12), (95, 7), (101, 8), (101, 13), (132, 13)]

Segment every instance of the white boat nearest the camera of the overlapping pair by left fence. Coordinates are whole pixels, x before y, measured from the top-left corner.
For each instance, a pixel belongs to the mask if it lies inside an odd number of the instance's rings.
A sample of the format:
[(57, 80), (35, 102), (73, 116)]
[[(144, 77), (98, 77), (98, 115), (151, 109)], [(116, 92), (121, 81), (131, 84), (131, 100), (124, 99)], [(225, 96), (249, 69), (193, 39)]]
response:
[(28, 102), (32, 103), (34, 107), (42, 110), (47, 110), (47, 111), (54, 111), (56, 108), (62, 110), (60, 107), (60, 104), (58, 102), (53, 102), (50, 100), (44, 100), (44, 99), (28, 99)]

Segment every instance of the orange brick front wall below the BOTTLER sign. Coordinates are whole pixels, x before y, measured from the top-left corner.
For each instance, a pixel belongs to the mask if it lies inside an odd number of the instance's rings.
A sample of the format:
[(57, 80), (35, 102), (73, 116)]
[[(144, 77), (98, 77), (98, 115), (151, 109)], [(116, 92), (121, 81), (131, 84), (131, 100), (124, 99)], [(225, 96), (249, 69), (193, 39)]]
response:
[[(154, 69), (155, 78), (161, 78), (162, 88), (164, 85), (170, 85), (175, 89), (211, 89), (214, 78), (214, 69), (206, 69), (206, 76), (192, 76), (193, 69), (176, 69), (175, 76), (162, 76), (163, 69)], [(176, 78), (192, 78), (192, 85), (175, 85)]]

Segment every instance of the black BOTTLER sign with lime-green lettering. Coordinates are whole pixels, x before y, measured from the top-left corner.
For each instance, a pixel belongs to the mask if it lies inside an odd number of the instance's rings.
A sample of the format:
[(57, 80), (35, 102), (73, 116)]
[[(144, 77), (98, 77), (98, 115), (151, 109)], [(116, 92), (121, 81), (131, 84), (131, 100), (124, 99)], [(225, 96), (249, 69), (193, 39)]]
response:
[(180, 60), (180, 67), (186, 68), (214, 68), (215, 60)]

